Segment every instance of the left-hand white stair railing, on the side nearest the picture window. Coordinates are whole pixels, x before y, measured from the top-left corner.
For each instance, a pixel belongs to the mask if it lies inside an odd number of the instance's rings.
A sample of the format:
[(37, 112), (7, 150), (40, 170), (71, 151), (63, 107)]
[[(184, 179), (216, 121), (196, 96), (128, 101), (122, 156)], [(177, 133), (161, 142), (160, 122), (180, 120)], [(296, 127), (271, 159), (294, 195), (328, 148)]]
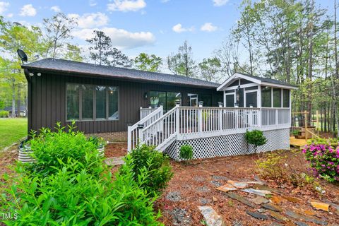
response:
[(136, 147), (136, 145), (139, 142), (140, 133), (143, 128), (149, 126), (150, 124), (153, 124), (154, 121), (162, 117), (163, 114), (163, 108), (162, 106), (157, 107), (157, 109), (154, 109), (152, 112), (149, 112), (148, 115), (141, 118), (140, 121), (138, 121), (136, 124), (133, 124), (133, 126), (128, 126), (127, 128), (127, 149), (132, 150)]

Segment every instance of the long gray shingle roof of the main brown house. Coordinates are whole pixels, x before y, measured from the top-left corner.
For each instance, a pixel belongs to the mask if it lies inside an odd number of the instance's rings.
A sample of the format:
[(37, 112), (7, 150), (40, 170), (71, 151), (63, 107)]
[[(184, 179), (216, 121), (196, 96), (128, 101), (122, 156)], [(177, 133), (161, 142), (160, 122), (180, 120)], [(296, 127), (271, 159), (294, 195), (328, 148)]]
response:
[(32, 71), (54, 71), (63, 72), (64, 74), (81, 73), (83, 75), (150, 81), (156, 83), (172, 83), (174, 85), (189, 85), (203, 88), (218, 88), (220, 84), (210, 83), (197, 78), (187, 78), (186, 76), (177, 76), (167, 73), (155, 73), (149, 71), (139, 71), (135, 69), (118, 68), (114, 66), (102, 66), (88, 64), (83, 62), (68, 61), (64, 59), (42, 59), (21, 66), (23, 69)]

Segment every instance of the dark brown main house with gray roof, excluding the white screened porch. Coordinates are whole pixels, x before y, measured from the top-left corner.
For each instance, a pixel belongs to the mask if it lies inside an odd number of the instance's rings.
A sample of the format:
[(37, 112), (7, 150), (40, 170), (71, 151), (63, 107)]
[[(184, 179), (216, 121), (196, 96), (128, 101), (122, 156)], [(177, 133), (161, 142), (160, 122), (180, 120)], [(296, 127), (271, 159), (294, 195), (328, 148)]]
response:
[[(220, 84), (166, 73), (99, 66), (61, 59), (42, 59), (22, 66), (28, 81), (28, 130), (53, 128), (57, 121), (85, 133), (127, 131), (151, 104), (172, 109), (218, 106)], [(107, 137), (107, 136), (106, 136)]]

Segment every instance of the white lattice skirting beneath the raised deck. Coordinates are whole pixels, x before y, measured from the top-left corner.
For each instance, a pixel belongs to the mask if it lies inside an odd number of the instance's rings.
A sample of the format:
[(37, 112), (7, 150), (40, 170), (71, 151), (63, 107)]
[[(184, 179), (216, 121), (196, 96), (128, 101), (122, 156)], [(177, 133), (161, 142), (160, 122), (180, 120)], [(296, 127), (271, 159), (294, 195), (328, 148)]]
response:
[[(263, 134), (267, 143), (258, 147), (258, 152), (290, 149), (290, 129), (263, 131)], [(174, 160), (180, 160), (179, 150), (184, 144), (192, 145), (194, 159), (255, 153), (254, 147), (247, 145), (244, 133), (174, 141), (166, 148), (165, 153)]]

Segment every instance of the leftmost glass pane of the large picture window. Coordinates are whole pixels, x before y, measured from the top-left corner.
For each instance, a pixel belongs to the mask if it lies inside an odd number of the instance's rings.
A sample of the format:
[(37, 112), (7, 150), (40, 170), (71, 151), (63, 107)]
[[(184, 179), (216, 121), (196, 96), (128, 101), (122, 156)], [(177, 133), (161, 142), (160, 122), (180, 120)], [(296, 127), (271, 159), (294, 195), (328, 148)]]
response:
[(67, 84), (67, 120), (79, 119), (80, 85)]

